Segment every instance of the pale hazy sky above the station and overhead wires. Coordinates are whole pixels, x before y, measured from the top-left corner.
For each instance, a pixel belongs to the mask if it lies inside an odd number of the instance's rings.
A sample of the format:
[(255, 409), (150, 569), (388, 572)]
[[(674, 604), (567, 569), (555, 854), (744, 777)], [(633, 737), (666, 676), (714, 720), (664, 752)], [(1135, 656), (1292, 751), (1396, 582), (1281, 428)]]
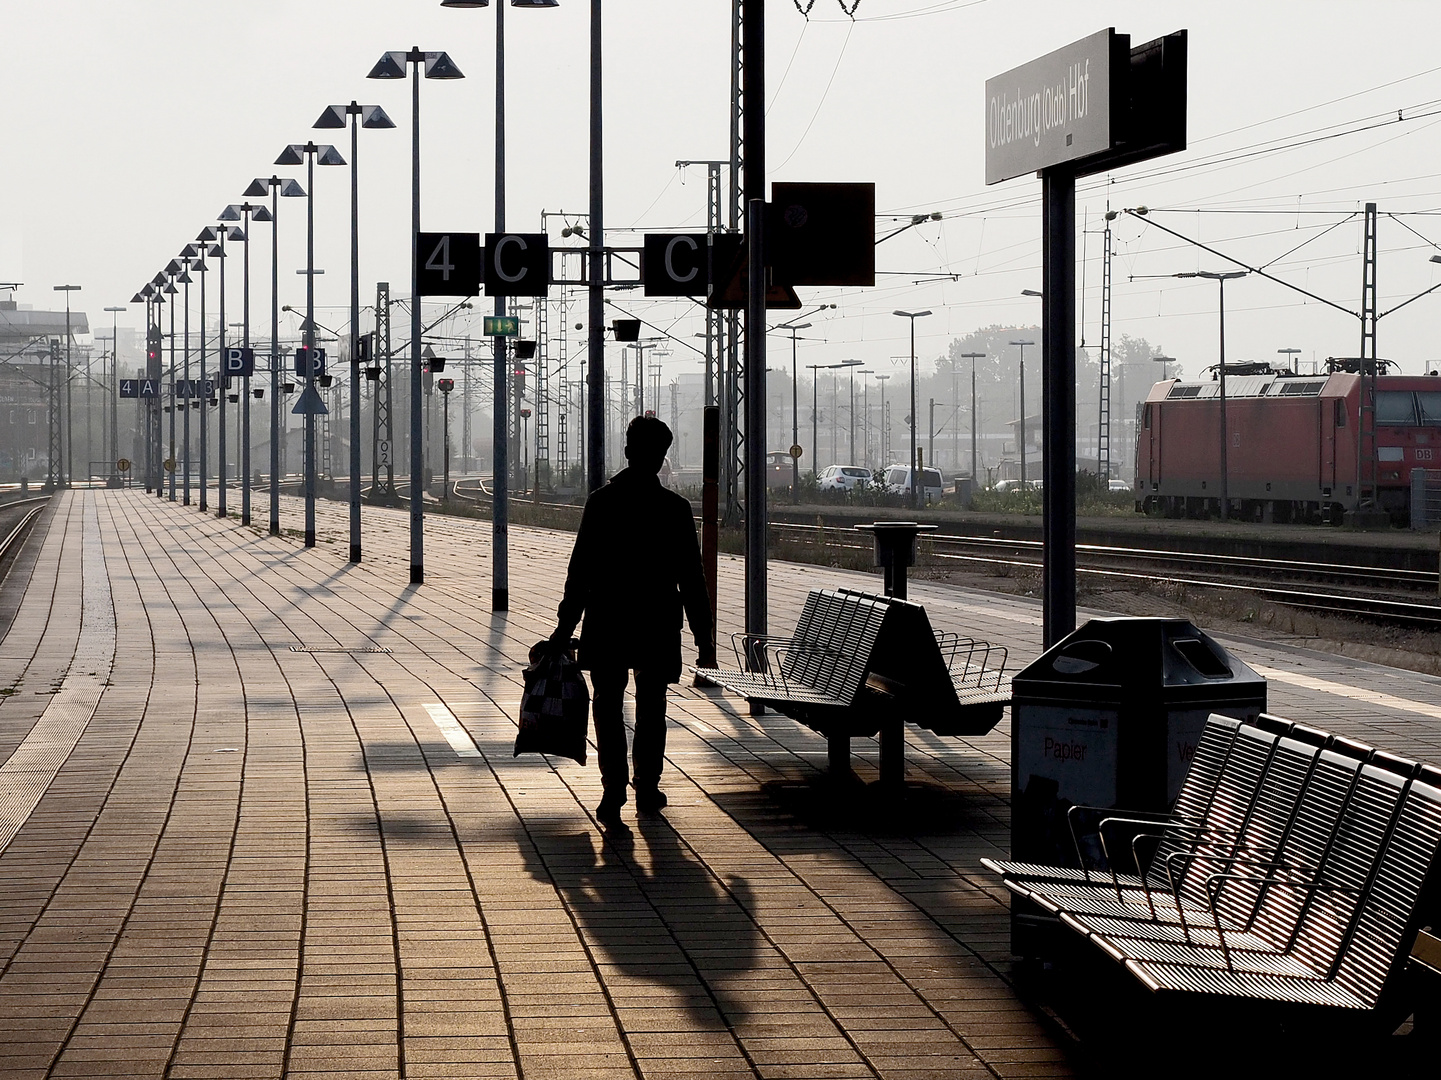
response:
[[(467, 75), (422, 87), (424, 228), (493, 226), (493, 7), (9, 0), (4, 9), (0, 281), (24, 281), (22, 303), (50, 306), (53, 284), (76, 283), (78, 304), (98, 323), (99, 309), (128, 301), (254, 176), (277, 172), (287, 143), (323, 136), (349, 157), (347, 133), (311, 124), (352, 98), (382, 104), (398, 124), (362, 133), (362, 294), (373, 298), (376, 280), (406, 293), (409, 88), (365, 75), (383, 50), (412, 45), (448, 50)], [(703, 226), (705, 170), (674, 161), (728, 154), (729, 12), (729, 0), (605, 6), (610, 242), (638, 242), (627, 229)], [(586, 208), (589, 3), (506, 16), (507, 223), (533, 229), (542, 211)], [(801, 342), (801, 363), (901, 356), (908, 345), (895, 307), (935, 311), (918, 324), (922, 356), (978, 326), (1039, 320), (1039, 303), (1019, 296), (1040, 284), (1039, 183), (984, 186), (983, 85), (1105, 26), (1133, 43), (1189, 29), (1190, 149), (1082, 182), (1088, 345), (1099, 336), (1108, 200), (1157, 208), (1156, 221), (1352, 310), (1362, 232), (1359, 216), (1346, 216), (1375, 200), (1396, 215), (1380, 222), (1382, 309), (1441, 281), (1428, 261), (1441, 242), (1441, 14), (1429, 0), (860, 0), (855, 20), (837, 0), (816, 0), (808, 22), (791, 0), (769, 0), (769, 179), (873, 180), (882, 213), (944, 215), (879, 248), (876, 288), (801, 290), (810, 303), (837, 304), (811, 320), (816, 340)], [(317, 264), (327, 271), (318, 320), (342, 327), (349, 170), (318, 170), (316, 187)], [(300, 306), (304, 200), (287, 200), (281, 213), (281, 301)], [(553, 242), (562, 223), (552, 221)], [(891, 228), (878, 222), (878, 232)], [(1144, 275), (1226, 264), (1136, 219), (1114, 229), (1114, 333), (1144, 336), (1192, 372), (1213, 362), (1215, 286)], [(265, 310), (268, 226), (255, 235), (254, 303)], [(955, 278), (925, 281), (935, 274)], [(689, 303), (614, 298), (680, 339), (702, 326)], [(1226, 298), (1232, 358), (1357, 350), (1355, 317), (1280, 286), (1251, 278)], [(231, 304), (235, 313), (238, 288)], [(121, 319), (138, 326), (140, 309)], [(1441, 291), (1382, 320), (1382, 355), (1421, 371), (1441, 358), (1437, 323)], [(772, 349), (788, 359), (787, 339), (775, 336)], [(677, 345), (667, 368), (697, 362)]]

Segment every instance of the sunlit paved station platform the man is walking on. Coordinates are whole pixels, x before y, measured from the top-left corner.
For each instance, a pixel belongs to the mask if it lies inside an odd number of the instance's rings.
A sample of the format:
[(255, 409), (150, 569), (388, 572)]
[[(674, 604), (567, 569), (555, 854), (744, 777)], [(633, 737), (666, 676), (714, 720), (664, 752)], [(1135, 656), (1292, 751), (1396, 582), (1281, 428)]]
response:
[[(1009, 734), (906, 731), (914, 797), (839, 813), (826, 744), (673, 688), (664, 818), (512, 756), (571, 534), (318, 508), (320, 544), (138, 490), (62, 493), (0, 588), (0, 1076), (1068, 1076), (1010, 985)], [(771, 629), (818, 585), (771, 572)], [(722, 557), (719, 629), (742, 629)], [(1027, 600), (912, 583), (1039, 652)], [(1441, 760), (1441, 681), (1222, 637), (1271, 709)], [(856, 771), (876, 774), (856, 741)]]

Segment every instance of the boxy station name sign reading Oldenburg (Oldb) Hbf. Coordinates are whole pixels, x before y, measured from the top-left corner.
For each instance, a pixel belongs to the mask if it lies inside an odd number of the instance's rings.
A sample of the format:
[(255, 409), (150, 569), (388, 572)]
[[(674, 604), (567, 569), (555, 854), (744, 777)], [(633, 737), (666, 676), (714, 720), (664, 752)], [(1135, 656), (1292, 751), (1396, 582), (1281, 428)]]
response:
[(1186, 32), (1131, 49), (1114, 27), (986, 81), (986, 183), (1076, 176), (1186, 147)]

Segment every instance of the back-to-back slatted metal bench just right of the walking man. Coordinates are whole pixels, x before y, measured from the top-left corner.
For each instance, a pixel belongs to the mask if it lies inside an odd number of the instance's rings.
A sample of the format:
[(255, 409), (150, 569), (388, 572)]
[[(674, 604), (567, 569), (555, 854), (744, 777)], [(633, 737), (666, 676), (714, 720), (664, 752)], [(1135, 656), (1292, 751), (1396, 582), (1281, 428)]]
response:
[(774, 708), (827, 741), (850, 773), (850, 740), (880, 740), (880, 780), (905, 777), (902, 725), (983, 735), (1010, 701), (1006, 650), (937, 634), (919, 604), (857, 590), (816, 590), (788, 637), (732, 634), (736, 668), (697, 668), (708, 682)]

